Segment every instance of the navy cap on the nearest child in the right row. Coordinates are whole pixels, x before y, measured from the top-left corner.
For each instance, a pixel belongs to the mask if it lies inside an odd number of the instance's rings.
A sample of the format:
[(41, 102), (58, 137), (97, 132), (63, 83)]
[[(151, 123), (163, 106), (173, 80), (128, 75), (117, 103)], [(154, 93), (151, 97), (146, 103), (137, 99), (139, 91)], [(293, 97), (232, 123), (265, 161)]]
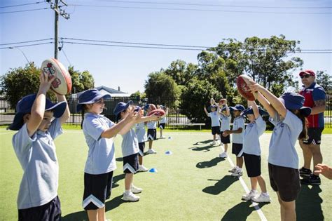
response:
[(286, 92), (279, 98), (279, 100), (284, 103), (286, 109), (298, 109), (304, 116), (309, 116), (311, 114), (310, 107), (303, 107), (305, 98), (298, 93)]

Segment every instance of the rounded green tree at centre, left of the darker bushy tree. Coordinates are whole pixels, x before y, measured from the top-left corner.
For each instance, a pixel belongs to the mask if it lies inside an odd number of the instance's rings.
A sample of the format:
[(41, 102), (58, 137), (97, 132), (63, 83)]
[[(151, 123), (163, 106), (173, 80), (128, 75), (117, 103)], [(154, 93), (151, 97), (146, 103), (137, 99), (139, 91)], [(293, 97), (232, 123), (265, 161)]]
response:
[(170, 102), (179, 98), (179, 88), (177, 83), (164, 72), (153, 72), (148, 74), (145, 83), (146, 97), (154, 102), (171, 105)]

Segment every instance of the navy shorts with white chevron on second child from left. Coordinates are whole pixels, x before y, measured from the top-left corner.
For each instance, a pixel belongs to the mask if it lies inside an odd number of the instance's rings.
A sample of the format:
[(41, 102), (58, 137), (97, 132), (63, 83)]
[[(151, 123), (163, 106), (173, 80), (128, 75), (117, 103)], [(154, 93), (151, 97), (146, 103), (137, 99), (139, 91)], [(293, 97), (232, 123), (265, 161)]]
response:
[(111, 197), (113, 171), (102, 174), (84, 173), (84, 194), (82, 206), (85, 210), (97, 210), (105, 206)]

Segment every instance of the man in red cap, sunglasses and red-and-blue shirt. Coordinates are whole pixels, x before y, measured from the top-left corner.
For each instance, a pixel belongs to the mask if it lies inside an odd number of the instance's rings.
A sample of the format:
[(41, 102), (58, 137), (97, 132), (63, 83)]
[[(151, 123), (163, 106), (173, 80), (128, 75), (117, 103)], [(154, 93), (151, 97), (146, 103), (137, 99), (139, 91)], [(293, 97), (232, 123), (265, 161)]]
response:
[(311, 159), (314, 166), (323, 161), (321, 156), (321, 132), (324, 130), (324, 111), (325, 111), (325, 91), (324, 88), (314, 82), (316, 75), (310, 69), (300, 72), (300, 78), (303, 83), (303, 90), (300, 95), (305, 97), (304, 106), (311, 107), (311, 115), (307, 117), (307, 135), (306, 140), (300, 140), (300, 147), (303, 150), (304, 166), (300, 168), (302, 184), (320, 185), (319, 173), (312, 173), (310, 170)]

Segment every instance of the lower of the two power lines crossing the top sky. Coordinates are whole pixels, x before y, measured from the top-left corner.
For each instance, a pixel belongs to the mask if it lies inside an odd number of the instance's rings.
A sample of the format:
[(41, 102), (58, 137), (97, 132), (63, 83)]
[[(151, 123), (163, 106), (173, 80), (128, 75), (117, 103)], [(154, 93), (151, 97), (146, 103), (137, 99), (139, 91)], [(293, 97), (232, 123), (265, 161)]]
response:
[(275, 11), (234, 11), (234, 10), (216, 10), (216, 9), (195, 9), (195, 8), (153, 8), (153, 7), (135, 7), (135, 6), (97, 6), (97, 5), (82, 5), (69, 4), (68, 6), (78, 7), (95, 7), (95, 8), (133, 8), (133, 9), (151, 9), (151, 10), (166, 10), (166, 11), (210, 11), (210, 12), (226, 12), (226, 13), (256, 13), (256, 14), (332, 14), (331, 12), (275, 12)]

